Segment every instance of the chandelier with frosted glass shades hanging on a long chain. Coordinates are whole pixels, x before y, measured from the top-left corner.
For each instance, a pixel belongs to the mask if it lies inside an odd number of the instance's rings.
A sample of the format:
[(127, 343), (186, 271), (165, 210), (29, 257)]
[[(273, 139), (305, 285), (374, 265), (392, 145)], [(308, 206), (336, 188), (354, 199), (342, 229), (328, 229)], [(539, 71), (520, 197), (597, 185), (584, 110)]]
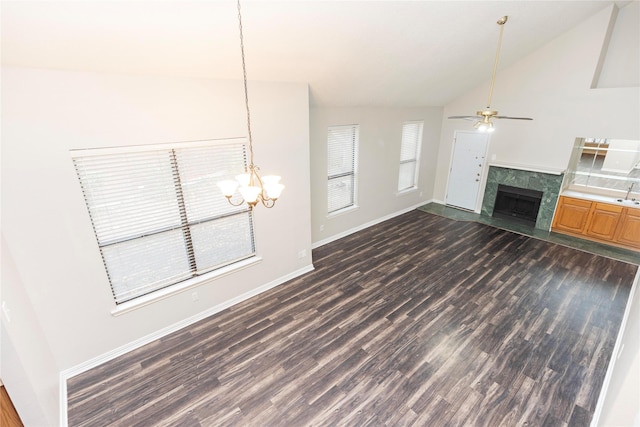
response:
[[(280, 184), (280, 177), (276, 175), (268, 175), (260, 177), (258, 170), (260, 168), (253, 163), (253, 139), (251, 137), (251, 113), (249, 112), (249, 94), (247, 90), (247, 67), (244, 59), (244, 38), (242, 36), (242, 14), (240, 13), (240, 0), (238, 0), (238, 23), (240, 27), (240, 52), (242, 54), (242, 74), (244, 81), (244, 102), (247, 108), (247, 132), (249, 134), (249, 166), (245, 168), (245, 173), (236, 176), (236, 180), (227, 180), (218, 182), (218, 187), (222, 194), (227, 198), (233, 206), (240, 206), (244, 202), (249, 205), (249, 209), (253, 209), (258, 203), (267, 208), (272, 208), (284, 185)], [(242, 200), (233, 202), (231, 198), (238, 190), (242, 196)]]

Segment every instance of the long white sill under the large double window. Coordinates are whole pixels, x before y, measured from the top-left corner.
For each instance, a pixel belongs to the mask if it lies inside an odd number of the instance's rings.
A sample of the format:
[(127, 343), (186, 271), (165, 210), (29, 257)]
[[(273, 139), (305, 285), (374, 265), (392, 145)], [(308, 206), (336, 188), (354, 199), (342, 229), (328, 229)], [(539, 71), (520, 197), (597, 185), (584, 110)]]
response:
[(122, 314), (129, 313), (133, 310), (137, 310), (139, 308), (161, 301), (165, 298), (169, 298), (173, 295), (179, 294), (189, 289), (193, 289), (209, 281), (213, 281), (213, 280), (219, 279), (220, 277), (224, 277), (231, 273), (235, 273), (236, 271), (251, 267), (252, 265), (258, 264), (261, 261), (262, 261), (261, 257), (254, 256), (254, 257), (239, 261), (237, 263), (234, 263), (232, 265), (228, 265), (226, 267), (220, 268), (218, 270), (203, 274), (202, 276), (194, 277), (192, 279), (185, 280), (184, 282), (177, 283), (173, 286), (160, 289), (148, 295), (143, 295), (134, 300), (127, 301), (122, 304), (118, 304), (116, 308), (111, 310), (111, 315), (120, 316)]

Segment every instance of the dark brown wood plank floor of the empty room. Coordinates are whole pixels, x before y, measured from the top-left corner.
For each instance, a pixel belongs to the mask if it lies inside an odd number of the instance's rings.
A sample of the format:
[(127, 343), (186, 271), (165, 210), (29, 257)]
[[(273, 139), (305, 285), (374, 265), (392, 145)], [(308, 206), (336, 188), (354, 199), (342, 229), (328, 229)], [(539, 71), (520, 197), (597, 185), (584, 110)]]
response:
[(636, 265), (412, 211), (69, 380), (71, 426), (587, 426)]

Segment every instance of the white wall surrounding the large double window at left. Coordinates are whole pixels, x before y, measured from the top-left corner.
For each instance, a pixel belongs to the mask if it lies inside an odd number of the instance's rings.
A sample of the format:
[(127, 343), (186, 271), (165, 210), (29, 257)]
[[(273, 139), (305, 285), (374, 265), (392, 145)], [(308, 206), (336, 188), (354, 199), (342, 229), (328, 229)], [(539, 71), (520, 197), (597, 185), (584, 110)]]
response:
[(186, 292), (118, 317), (69, 150), (246, 136), (242, 82), (3, 68), (2, 89), (2, 234), (27, 299), (7, 304), (28, 308), (45, 341), (13, 341), (25, 371), (38, 372), (28, 354), (42, 346), (57, 375), (311, 268), (306, 84), (249, 83), (256, 163), (286, 185), (275, 208), (256, 210), (263, 261), (199, 286), (196, 302)]

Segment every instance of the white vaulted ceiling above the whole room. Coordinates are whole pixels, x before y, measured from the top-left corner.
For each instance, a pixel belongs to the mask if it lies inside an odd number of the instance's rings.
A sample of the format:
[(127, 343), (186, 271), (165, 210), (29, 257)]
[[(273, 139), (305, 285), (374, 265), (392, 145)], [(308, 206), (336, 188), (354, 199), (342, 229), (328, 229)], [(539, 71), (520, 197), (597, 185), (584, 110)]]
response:
[[(442, 106), (612, 1), (243, 1), (249, 80), (313, 105)], [(628, 2), (617, 2), (624, 5)], [(234, 1), (2, 1), (5, 65), (242, 78)], [(497, 83), (498, 84), (498, 83)]]

